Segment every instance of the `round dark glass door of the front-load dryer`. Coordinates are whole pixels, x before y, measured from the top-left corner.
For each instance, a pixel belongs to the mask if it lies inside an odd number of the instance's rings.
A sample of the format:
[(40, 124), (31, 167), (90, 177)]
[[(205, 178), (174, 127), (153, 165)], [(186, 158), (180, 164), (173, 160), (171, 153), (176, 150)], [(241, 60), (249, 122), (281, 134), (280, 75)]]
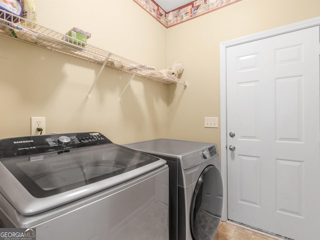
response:
[(220, 171), (208, 165), (195, 185), (190, 208), (193, 240), (212, 240), (221, 220), (222, 179)]

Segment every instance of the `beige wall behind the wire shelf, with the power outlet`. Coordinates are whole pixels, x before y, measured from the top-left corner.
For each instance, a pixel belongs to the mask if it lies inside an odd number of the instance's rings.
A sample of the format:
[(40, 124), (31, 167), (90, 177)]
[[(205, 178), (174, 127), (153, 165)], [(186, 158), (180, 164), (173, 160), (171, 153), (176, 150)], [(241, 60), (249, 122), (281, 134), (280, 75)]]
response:
[[(142, 64), (165, 64), (166, 29), (132, 0), (35, 0), (38, 23), (73, 26), (88, 42)], [(90, 4), (90, 5), (88, 5)], [(83, 17), (84, 16), (84, 17)], [(0, 138), (30, 134), (30, 117), (46, 117), (46, 133), (101, 131), (116, 143), (166, 135), (167, 85), (0, 36)]]

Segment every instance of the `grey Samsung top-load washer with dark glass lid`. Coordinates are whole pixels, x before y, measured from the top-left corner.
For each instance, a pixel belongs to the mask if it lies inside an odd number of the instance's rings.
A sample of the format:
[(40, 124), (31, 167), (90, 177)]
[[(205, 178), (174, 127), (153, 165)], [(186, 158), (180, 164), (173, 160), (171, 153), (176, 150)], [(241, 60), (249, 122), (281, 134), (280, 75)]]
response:
[(98, 132), (1, 139), (0, 227), (38, 240), (167, 240), (165, 163)]

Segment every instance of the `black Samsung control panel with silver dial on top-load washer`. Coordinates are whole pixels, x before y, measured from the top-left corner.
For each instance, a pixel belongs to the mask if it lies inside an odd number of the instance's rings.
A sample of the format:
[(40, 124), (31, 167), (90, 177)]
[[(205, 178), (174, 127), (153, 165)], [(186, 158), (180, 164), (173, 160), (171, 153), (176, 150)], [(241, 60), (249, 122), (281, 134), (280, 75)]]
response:
[(32, 135), (0, 139), (0, 159), (43, 154), (58, 151), (66, 152), (70, 148), (112, 143), (99, 132), (77, 132), (48, 135)]

